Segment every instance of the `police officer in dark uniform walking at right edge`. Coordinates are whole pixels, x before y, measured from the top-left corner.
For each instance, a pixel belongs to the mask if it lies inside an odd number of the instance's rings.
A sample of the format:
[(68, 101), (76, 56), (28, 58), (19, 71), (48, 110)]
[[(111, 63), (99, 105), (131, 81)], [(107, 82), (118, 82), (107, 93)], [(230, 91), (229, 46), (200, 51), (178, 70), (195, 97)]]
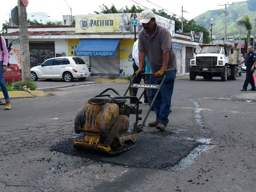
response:
[(245, 57), (244, 65), (246, 66), (246, 77), (244, 81), (243, 89), (240, 89), (241, 91), (247, 91), (247, 86), (250, 83), (252, 85), (252, 89), (249, 89), (249, 91), (256, 91), (254, 79), (253, 79), (253, 72), (255, 70), (256, 65), (256, 54), (252, 50), (252, 46), (249, 46), (247, 49), (248, 53)]

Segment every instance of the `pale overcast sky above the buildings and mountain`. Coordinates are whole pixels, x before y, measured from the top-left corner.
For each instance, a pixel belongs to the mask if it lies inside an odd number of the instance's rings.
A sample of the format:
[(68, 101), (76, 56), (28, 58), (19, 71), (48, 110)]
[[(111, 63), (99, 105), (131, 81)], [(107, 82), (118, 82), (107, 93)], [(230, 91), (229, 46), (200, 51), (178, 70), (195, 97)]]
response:
[[(3, 1), (3, 0), (2, 0)], [(225, 9), (225, 4), (231, 4), (232, 2), (239, 2), (241, 0), (233, 0), (231, 2), (225, 0), (182, 0), (182, 1), (169, 1), (166, 0), (95, 0), (95, 1), (82, 1), (82, 0), (29, 0), (27, 12), (45, 12), (50, 16), (50, 19), (61, 20), (62, 15), (86, 15), (94, 11), (100, 12), (99, 6), (105, 4), (108, 8), (114, 4), (116, 9), (122, 7), (131, 8), (131, 6), (138, 5), (145, 9), (164, 9), (168, 14), (176, 14), (181, 16), (181, 7), (183, 6), (183, 17), (187, 20), (191, 20), (196, 16), (214, 9)], [(4, 5), (3, 5), (4, 4)], [(2, 3), (4, 8), (0, 12), (0, 22), (4, 23), (4, 20), (8, 21), (11, 10), (18, 4), (18, 0), (7, 0)], [(219, 6), (224, 5), (224, 6)], [(71, 8), (71, 10), (70, 10)], [(210, 22), (211, 18), (209, 18)]]

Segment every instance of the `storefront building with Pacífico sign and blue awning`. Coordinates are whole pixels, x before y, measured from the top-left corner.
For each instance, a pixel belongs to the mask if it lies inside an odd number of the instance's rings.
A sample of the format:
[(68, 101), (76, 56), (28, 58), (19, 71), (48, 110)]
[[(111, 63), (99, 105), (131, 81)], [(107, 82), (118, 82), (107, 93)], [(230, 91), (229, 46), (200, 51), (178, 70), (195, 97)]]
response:
[[(136, 14), (139, 18), (139, 13)], [(75, 18), (75, 27), (28, 27), (31, 67), (53, 57), (77, 56), (85, 61), (92, 76), (133, 74), (132, 47), (142, 29), (141, 24), (135, 25), (134, 34), (131, 23), (134, 13), (76, 15)], [(191, 42), (189, 36), (174, 33), (173, 20), (156, 15), (156, 22), (169, 29), (177, 58), (177, 75), (185, 75), (187, 61), (193, 56), (188, 52), (198, 43)], [(9, 43), (13, 40), (10, 62), (20, 67), (19, 28), (8, 27), (7, 32), (4, 38)]]

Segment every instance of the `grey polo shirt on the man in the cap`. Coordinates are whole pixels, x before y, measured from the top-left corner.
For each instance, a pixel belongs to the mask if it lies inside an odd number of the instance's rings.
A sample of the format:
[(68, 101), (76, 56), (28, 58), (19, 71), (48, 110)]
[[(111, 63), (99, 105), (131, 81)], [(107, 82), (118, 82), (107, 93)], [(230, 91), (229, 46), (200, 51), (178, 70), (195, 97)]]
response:
[(163, 51), (169, 51), (169, 60), (166, 71), (177, 70), (176, 55), (172, 48), (172, 37), (170, 31), (162, 26), (156, 25), (154, 35), (149, 38), (147, 32), (142, 29), (139, 33), (139, 51), (146, 52), (152, 73), (156, 73), (163, 66)]

